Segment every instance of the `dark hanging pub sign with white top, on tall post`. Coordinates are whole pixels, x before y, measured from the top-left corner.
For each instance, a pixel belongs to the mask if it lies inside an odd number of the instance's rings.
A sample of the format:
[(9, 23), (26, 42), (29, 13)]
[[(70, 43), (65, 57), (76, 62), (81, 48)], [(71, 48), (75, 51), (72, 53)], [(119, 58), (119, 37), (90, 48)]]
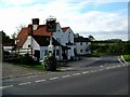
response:
[(56, 18), (50, 16), (49, 18), (47, 18), (47, 31), (48, 32), (55, 32), (56, 31)]

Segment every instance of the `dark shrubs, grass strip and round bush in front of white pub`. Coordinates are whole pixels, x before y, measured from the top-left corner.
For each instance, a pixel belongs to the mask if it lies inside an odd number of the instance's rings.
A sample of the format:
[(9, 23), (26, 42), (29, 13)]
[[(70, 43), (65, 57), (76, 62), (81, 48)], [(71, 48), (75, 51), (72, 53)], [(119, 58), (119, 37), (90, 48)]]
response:
[(61, 63), (58, 63), (53, 56), (46, 57), (42, 63), (39, 63), (39, 60), (35, 60), (31, 56), (29, 56), (29, 54), (25, 54), (24, 56), (20, 56), (20, 55), (15, 55), (12, 57), (9, 56), (3, 58), (3, 61), (25, 68), (43, 70), (43, 71), (46, 70), (57, 71), (57, 68), (61, 67)]

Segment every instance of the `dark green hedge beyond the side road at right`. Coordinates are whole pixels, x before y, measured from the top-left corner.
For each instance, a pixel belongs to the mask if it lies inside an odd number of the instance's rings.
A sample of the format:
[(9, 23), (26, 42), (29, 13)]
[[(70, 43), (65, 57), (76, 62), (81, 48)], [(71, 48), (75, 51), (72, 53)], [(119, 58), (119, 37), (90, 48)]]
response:
[(130, 42), (119, 43), (93, 43), (91, 45), (93, 55), (121, 55), (130, 54)]

